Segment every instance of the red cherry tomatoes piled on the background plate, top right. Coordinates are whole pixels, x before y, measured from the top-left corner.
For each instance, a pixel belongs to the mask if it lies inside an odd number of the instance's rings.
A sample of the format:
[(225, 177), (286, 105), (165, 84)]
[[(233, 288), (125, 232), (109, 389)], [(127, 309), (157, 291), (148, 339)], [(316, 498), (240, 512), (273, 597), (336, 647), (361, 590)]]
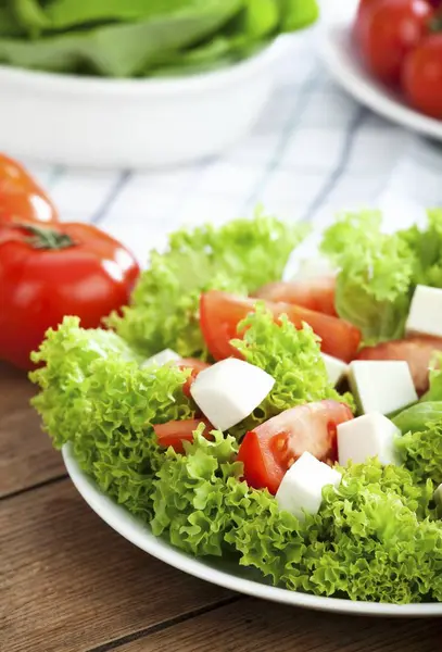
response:
[(354, 39), (377, 79), (442, 120), (441, 0), (359, 0)]

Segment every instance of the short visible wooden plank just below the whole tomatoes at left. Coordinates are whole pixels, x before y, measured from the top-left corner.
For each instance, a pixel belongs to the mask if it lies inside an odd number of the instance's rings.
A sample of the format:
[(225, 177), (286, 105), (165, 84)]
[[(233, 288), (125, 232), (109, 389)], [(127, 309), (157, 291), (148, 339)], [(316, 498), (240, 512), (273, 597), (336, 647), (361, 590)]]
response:
[(0, 497), (64, 473), (61, 455), (29, 405), (34, 392), (24, 372), (0, 363)]

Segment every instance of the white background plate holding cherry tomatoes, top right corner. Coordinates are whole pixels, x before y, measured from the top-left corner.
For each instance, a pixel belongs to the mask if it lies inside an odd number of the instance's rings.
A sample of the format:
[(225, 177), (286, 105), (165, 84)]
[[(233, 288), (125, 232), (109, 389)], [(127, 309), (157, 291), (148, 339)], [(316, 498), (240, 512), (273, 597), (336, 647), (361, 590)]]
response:
[(329, 73), (350, 95), (372, 111), (404, 127), (442, 140), (442, 121), (414, 111), (364, 68), (351, 40), (356, 5), (353, 0), (343, 1), (339, 11), (328, 12), (319, 29), (319, 52)]

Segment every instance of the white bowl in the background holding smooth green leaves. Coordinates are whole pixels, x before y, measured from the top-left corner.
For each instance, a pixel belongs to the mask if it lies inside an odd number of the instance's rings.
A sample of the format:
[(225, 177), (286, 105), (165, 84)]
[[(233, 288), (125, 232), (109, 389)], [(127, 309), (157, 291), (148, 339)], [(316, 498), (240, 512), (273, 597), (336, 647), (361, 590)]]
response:
[(0, 147), (17, 158), (97, 167), (178, 165), (217, 154), (254, 125), (288, 38), (228, 68), (178, 78), (0, 66)]

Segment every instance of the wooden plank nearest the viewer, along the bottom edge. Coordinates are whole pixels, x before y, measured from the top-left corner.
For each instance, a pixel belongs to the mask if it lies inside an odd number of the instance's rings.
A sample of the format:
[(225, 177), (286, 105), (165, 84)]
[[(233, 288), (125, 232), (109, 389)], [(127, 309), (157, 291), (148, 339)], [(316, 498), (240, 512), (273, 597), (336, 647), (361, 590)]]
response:
[(442, 619), (330, 615), (244, 599), (115, 652), (434, 652), (441, 635)]

